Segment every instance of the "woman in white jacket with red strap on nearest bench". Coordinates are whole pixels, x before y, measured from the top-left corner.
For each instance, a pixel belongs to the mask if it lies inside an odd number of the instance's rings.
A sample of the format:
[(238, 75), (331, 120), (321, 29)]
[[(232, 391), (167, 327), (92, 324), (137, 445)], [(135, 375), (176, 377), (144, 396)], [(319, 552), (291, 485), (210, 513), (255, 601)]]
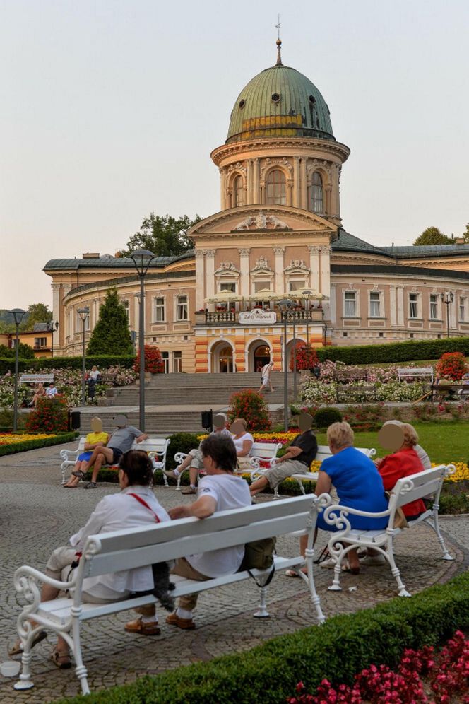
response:
[[(69, 545), (54, 550), (47, 561), (45, 573), (56, 580), (66, 581), (72, 563), (78, 561), (90, 535), (169, 521), (169, 515), (153, 494), (152, 483), (153, 466), (146, 452), (143, 450), (126, 452), (119, 464), (121, 492), (110, 494), (100, 500), (85, 526), (71, 536)], [(123, 570), (83, 580), (83, 602), (106, 604), (127, 599), (131, 592), (145, 592), (150, 589), (153, 589), (151, 566)], [(58, 595), (59, 589), (51, 585), (42, 587), (42, 602), (56, 599)], [(45, 630), (40, 631), (32, 645), (40, 643), (46, 635)], [(9, 655), (20, 655), (22, 652), (23, 647), (18, 640), (9, 651)], [(71, 667), (69, 646), (60, 635), (52, 652), (52, 662), (60, 669)]]

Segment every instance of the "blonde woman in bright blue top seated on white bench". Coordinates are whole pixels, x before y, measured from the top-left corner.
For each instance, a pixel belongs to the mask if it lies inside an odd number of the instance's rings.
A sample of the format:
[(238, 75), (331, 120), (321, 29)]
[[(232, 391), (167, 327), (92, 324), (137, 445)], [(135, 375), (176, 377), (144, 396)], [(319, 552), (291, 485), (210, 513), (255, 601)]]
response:
[[(327, 442), (332, 457), (327, 457), (321, 464), (315, 493), (317, 496), (330, 493), (333, 485), (344, 506), (370, 513), (386, 511), (388, 501), (384, 495), (383, 480), (372, 460), (355, 450), (353, 438), (353, 430), (348, 423), (333, 423), (328, 427)], [(348, 520), (352, 528), (364, 530), (385, 528), (388, 524), (388, 517), (367, 518), (349, 514)], [(316, 526), (330, 532), (337, 530), (336, 526), (326, 523), (322, 514), (318, 516)], [(300, 547), (304, 555), (307, 536), (300, 539)], [(360, 563), (355, 549), (348, 553), (348, 563), (350, 571), (358, 574)]]

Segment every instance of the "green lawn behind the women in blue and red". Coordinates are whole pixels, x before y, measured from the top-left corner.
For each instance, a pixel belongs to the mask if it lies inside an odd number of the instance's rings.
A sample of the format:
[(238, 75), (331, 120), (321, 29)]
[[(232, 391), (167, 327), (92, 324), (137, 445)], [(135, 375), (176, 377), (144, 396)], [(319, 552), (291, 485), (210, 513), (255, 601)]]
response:
[[(469, 421), (412, 423), (419, 435), (419, 444), (432, 462), (468, 462)], [(317, 433), (319, 445), (327, 445), (326, 433)], [(378, 457), (389, 454), (378, 443), (378, 433), (355, 433), (355, 447), (375, 447)]]

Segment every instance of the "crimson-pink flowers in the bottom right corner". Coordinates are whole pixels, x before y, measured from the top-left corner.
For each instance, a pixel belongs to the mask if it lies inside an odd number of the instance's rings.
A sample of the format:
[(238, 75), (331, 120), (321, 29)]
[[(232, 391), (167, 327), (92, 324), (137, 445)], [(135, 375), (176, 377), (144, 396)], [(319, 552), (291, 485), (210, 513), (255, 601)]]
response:
[(429, 682), (437, 704), (451, 701), (469, 703), (469, 640), (465, 640), (461, 630), (436, 655), (433, 647), (421, 650), (405, 650), (396, 671), (387, 665), (370, 665), (355, 676), (355, 684), (350, 687), (340, 684), (334, 688), (323, 679), (316, 694), (308, 694), (299, 682), (297, 696), (287, 698), (288, 704), (420, 704), (429, 699), (425, 694), (422, 676)]

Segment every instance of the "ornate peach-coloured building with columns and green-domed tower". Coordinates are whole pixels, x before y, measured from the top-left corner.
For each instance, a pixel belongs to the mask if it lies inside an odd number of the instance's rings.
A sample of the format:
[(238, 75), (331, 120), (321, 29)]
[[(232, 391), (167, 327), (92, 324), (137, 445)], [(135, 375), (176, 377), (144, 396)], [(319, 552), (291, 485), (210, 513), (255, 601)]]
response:
[[(287, 340), (371, 344), (469, 332), (469, 246), (374, 247), (342, 228), (340, 172), (350, 155), (328, 106), (299, 71), (261, 71), (239, 93), (227, 139), (211, 154), (220, 212), (190, 230), (194, 250), (155, 259), (146, 277), (146, 342), (170, 372), (244, 372), (272, 358), (283, 368), (276, 298), (298, 299)], [(52, 259), (54, 347), (80, 353), (110, 285), (138, 330), (138, 277), (130, 259)], [(441, 294), (448, 300), (444, 305)], [(452, 297), (450, 294), (453, 294)], [(451, 298), (451, 300), (449, 300)]]

